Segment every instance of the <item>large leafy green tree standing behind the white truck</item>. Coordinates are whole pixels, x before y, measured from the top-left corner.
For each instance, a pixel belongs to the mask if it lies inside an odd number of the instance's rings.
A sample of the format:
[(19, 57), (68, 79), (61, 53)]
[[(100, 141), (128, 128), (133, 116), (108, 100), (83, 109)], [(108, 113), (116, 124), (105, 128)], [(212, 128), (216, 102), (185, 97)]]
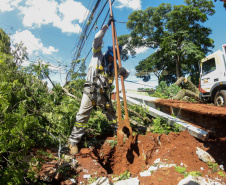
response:
[[(146, 46), (158, 50), (141, 61), (137, 72), (167, 71), (173, 78), (198, 74), (198, 61), (213, 48), (211, 29), (202, 23), (215, 13), (211, 0), (185, 0), (185, 5), (161, 4), (129, 15), (129, 35), (119, 37), (124, 49), (135, 55), (135, 48)], [(126, 52), (124, 52), (126, 53)], [(148, 64), (144, 65), (143, 63)], [(162, 67), (161, 65), (165, 66)], [(175, 69), (173, 69), (175, 68)], [(164, 69), (164, 70), (163, 70)], [(162, 75), (160, 75), (161, 77)]]

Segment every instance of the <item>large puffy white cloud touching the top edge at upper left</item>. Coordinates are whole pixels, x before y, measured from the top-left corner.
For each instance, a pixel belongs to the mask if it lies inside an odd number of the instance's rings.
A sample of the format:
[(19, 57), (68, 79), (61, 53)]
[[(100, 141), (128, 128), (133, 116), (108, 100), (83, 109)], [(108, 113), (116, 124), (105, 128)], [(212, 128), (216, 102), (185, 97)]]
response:
[(82, 23), (89, 12), (80, 2), (73, 0), (63, 0), (60, 4), (55, 0), (27, 0), (19, 9), (24, 26), (52, 24), (63, 33), (79, 33), (81, 27), (78, 23)]

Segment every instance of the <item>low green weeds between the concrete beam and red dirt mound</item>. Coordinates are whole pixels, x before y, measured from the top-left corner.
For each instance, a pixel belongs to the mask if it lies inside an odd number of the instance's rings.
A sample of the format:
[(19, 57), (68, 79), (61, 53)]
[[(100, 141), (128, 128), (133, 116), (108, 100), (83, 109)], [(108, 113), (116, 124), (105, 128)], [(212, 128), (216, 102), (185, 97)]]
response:
[(164, 119), (161, 119), (160, 117), (155, 119), (153, 118), (152, 121), (153, 123), (150, 131), (153, 133), (169, 134), (170, 132), (180, 132), (178, 125), (170, 126)]

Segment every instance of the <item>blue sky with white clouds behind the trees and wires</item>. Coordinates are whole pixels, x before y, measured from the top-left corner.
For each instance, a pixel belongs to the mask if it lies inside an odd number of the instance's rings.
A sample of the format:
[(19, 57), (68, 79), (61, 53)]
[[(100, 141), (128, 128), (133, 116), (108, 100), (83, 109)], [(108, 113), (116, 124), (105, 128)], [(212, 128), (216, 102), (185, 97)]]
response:
[[(96, 0), (0, 0), (0, 28), (10, 36), (12, 45), (24, 43), (29, 56), (29, 60), (23, 63), (24, 66), (41, 59), (50, 65), (53, 72), (50, 78), (64, 85), (66, 73), (74, 59), (79, 37), (83, 33), (82, 30), (95, 2)], [(104, 3), (105, 0), (100, 2), (97, 13), (100, 12)], [(128, 16), (133, 11), (145, 10), (150, 6), (156, 7), (161, 3), (179, 5), (183, 4), (183, 0), (115, 0), (113, 4), (114, 18), (119, 22), (127, 22)], [(214, 5), (216, 13), (209, 17), (204, 24), (212, 29), (210, 37), (214, 39), (213, 52), (226, 44), (226, 10), (219, 0), (214, 2)], [(109, 4), (107, 3), (96, 22), (96, 28), (91, 31), (86, 40), (81, 58), (85, 58), (91, 49), (92, 40), (100, 29), (108, 9)], [(116, 22), (115, 24), (118, 36), (130, 33), (125, 23)], [(107, 46), (112, 45), (111, 29), (106, 32), (103, 42), (102, 51), (104, 53)], [(135, 58), (130, 57), (126, 62), (122, 62), (122, 66), (130, 71), (127, 80), (136, 82), (136, 84), (128, 82), (125, 85), (126, 88), (137, 88), (139, 83), (143, 84), (139, 87), (144, 88), (157, 86), (158, 82), (154, 75), (151, 76), (148, 83), (143, 83), (140, 78), (135, 77), (135, 66), (139, 64), (139, 61), (152, 54), (154, 50), (142, 47), (137, 48), (136, 51)], [(91, 54), (86, 59), (87, 68), (90, 59)], [(51, 84), (49, 86), (51, 87)]]

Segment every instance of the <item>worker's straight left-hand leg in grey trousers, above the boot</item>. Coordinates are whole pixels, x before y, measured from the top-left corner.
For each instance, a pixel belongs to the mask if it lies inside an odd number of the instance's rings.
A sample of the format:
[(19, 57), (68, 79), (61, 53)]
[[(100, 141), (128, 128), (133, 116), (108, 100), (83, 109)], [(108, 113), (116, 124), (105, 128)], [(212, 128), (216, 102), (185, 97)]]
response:
[[(89, 88), (84, 88), (84, 90), (89, 92)], [(81, 138), (85, 133), (89, 117), (92, 113), (92, 109), (93, 106), (91, 100), (85, 93), (83, 93), (80, 109), (76, 115), (76, 123), (72, 129), (71, 135), (69, 136), (69, 141), (74, 145), (81, 141)]]

